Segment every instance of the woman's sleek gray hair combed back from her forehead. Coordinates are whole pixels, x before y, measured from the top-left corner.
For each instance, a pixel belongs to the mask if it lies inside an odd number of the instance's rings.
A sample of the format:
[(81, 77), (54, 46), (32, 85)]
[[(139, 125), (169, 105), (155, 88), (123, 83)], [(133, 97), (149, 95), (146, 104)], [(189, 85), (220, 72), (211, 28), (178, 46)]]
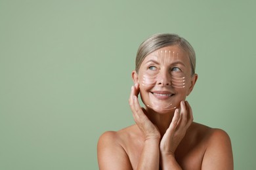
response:
[(188, 54), (192, 75), (194, 75), (196, 69), (196, 53), (193, 47), (184, 38), (179, 37), (179, 35), (170, 33), (159, 33), (156, 35), (152, 35), (152, 37), (149, 37), (144, 42), (142, 42), (142, 44), (140, 44), (135, 63), (135, 70), (137, 71), (137, 73), (139, 73), (140, 65), (144, 58), (146, 58), (146, 56), (165, 46), (174, 45), (178, 45), (179, 47), (181, 47), (182, 50), (184, 50), (184, 52)]

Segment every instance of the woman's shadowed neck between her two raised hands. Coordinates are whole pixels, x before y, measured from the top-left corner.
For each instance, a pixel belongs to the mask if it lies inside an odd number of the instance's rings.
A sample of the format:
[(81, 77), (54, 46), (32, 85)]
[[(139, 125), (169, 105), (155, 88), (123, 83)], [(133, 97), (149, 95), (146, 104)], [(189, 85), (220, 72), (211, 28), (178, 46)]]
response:
[(171, 121), (173, 120), (173, 114), (175, 109), (169, 110), (169, 112), (166, 113), (158, 113), (155, 112), (152, 109), (146, 108), (147, 116), (149, 120), (158, 127), (161, 137), (165, 134), (165, 131), (168, 129), (168, 127), (171, 124)]

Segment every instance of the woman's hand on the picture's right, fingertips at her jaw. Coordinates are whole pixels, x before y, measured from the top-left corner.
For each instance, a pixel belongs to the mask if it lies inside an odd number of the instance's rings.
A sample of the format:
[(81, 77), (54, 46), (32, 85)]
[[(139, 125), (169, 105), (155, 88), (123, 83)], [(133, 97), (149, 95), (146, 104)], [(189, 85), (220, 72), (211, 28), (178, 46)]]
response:
[(192, 109), (188, 101), (181, 101), (181, 109), (175, 110), (173, 120), (161, 139), (160, 154), (162, 157), (174, 156), (177, 146), (181, 143), (192, 122)]

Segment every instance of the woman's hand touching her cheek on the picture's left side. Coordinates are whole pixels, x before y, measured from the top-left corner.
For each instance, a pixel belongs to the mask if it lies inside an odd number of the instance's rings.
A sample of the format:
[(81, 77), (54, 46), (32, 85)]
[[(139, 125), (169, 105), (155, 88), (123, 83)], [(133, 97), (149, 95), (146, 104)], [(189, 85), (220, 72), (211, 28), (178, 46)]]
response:
[(140, 107), (138, 95), (140, 93), (139, 84), (135, 84), (131, 88), (131, 95), (129, 97), (129, 105), (133, 112), (135, 123), (142, 131), (144, 139), (159, 139), (161, 138), (158, 128), (146, 116), (146, 110)]

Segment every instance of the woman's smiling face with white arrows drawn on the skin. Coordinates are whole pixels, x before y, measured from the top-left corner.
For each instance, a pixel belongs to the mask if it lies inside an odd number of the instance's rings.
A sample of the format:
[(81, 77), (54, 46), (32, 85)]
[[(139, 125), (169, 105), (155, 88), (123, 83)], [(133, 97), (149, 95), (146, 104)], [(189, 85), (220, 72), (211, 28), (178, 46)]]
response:
[(133, 79), (148, 109), (170, 112), (192, 91), (197, 75), (191, 76), (190, 59), (179, 46), (160, 48), (144, 59)]

